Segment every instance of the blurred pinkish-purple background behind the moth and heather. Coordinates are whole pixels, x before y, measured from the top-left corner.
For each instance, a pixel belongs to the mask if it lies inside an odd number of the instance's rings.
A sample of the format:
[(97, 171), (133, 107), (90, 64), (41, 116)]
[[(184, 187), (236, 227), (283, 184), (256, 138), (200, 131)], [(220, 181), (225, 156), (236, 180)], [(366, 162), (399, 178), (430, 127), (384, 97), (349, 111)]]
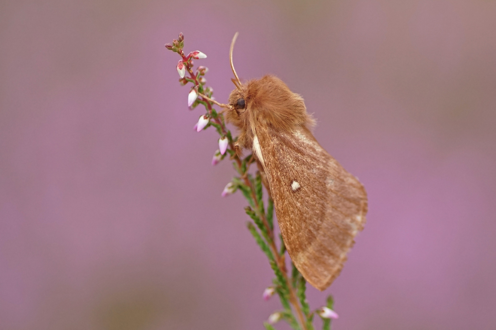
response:
[[(496, 2), (0, 2), (0, 329), (262, 329), (271, 270), (220, 193), (213, 130), (178, 83), (208, 55), (225, 101), (273, 73), (364, 183), (334, 330), (496, 329)], [(287, 327), (278, 325), (279, 329)]]

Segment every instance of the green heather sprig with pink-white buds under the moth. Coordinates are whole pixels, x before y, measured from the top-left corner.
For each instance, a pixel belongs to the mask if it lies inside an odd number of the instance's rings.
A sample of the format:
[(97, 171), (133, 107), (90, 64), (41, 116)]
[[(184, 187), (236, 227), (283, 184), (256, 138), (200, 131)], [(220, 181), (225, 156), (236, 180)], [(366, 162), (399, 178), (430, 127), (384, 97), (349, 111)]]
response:
[[(323, 330), (330, 330), (331, 319), (337, 319), (338, 315), (332, 310), (332, 296), (327, 297), (326, 306), (310, 312), (310, 306), (306, 298), (306, 281), (298, 269), (291, 264), (291, 274), (286, 269), (286, 248), (282, 236), (276, 239), (274, 235), (273, 216), (274, 202), (269, 197), (264, 202), (262, 177), (259, 171), (252, 175), (249, 173), (250, 166), (255, 162), (252, 154), (246, 157), (239, 156), (234, 148), (237, 137), (233, 137), (231, 131), (227, 129), (224, 115), (214, 109), (214, 105), (228, 106), (218, 103), (213, 97), (213, 89), (206, 86), (205, 74), (208, 68), (198, 66), (193, 70), (193, 59), (206, 58), (207, 55), (199, 50), (191, 51), (185, 55), (184, 35), (179, 34), (178, 39), (174, 39), (172, 44), (165, 47), (177, 52), (181, 59), (177, 64), (179, 82), (182, 86), (191, 83), (187, 94), (187, 105), (189, 109), (196, 108), (199, 104), (205, 107), (205, 113), (200, 115), (198, 122), (194, 125), (194, 130), (202, 130), (213, 127), (219, 134), (219, 149), (214, 152), (212, 165), (218, 164), (226, 156), (233, 162), (237, 175), (229, 182), (222, 196), (235, 193), (240, 190), (248, 201), (245, 212), (251, 219), (248, 221), (248, 231), (254, 237), (255, 242), (268, 258), (269, 265), (274, 271), (275, 278), (273, 285), (267, 287), (262, 294), (264, 300), (268, 300), (277, 293), (281, 301), (282, 310), (270, 314), (264, 326), (267, 330), (275, 330), (274, 324), (280, 320), (286, 321), (294, 330), (313, 330), (313, 317), (317, 314), (323, 320)], [(266, 209), (264, 205), (267, 205)], [(279, 246), (279, 247), (278, 247)]]

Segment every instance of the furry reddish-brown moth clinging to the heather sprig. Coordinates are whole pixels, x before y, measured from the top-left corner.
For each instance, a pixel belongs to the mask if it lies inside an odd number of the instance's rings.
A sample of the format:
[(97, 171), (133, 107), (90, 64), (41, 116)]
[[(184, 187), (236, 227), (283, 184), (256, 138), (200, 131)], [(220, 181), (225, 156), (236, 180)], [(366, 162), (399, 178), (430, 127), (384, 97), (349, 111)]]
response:
[(288, 253), (303, 277), (319, 290), (341, 272), (354, 237), (365, 224), (367, 193), (315, 140), (303, 98), (279, 78), (241, 83), (223, 110), (240, 135), (235, 147), (253, 150)]

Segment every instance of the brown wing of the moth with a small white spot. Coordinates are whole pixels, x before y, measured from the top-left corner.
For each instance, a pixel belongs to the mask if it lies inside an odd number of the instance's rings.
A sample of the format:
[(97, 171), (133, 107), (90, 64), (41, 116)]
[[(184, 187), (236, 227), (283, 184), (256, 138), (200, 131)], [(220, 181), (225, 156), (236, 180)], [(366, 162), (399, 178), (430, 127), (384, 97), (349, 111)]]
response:
[(341, 272), (365, 224), (364, 187), (305, 127), (292, 133), (258, 127), (253, 148), (288, 253), (303, 277), (324, 290)]

